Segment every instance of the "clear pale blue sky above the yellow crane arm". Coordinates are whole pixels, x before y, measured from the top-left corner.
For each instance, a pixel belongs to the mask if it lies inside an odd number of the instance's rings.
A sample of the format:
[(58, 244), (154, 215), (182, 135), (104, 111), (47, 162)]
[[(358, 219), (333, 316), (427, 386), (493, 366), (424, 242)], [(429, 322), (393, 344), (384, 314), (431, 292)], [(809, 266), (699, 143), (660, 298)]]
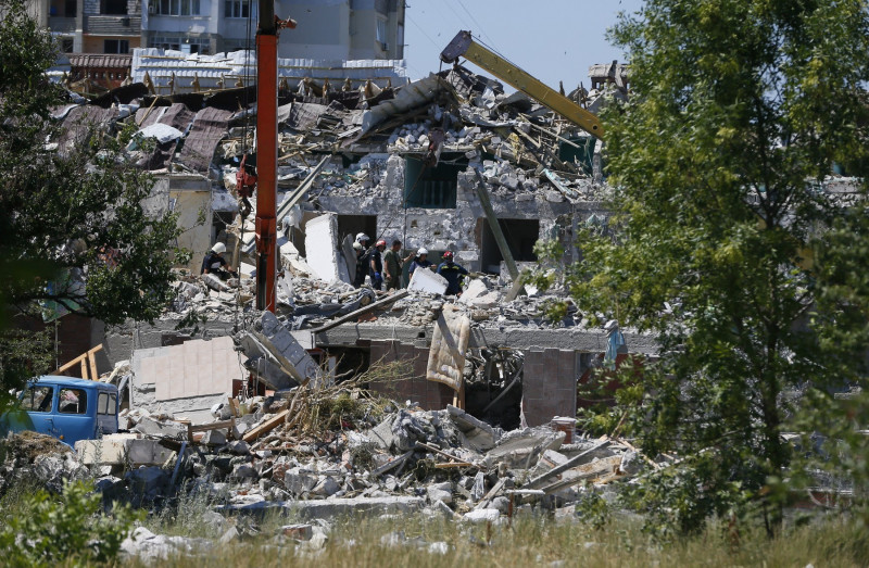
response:
[(568, 92), (579, 81), (589, 87), (589, 65), (625, 61), (621, 50), (606, 40), (606, 29), (620, 11), (635, 12), (642, 5), (642, 0), (406, 1), (404, 58), (411, 79), (437, 72), (441, 50), (458, 30), (470, 29), (550, 87), (557, 89), (563, 80)]

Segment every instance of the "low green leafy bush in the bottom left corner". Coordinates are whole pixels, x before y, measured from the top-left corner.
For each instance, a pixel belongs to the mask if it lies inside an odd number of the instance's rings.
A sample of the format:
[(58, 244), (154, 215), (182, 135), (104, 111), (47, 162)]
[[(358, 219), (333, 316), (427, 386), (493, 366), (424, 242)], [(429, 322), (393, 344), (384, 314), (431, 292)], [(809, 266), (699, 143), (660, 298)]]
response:
[(0, 555), (7, 566), (55, 566), (62, 563), (113, 563), (121, 543), (140, 515), (116, 505), (100, 510), (93, 485), (67, 482), (58, 497), (40, 490), (22, 498), (17, 514), (0, 529)]

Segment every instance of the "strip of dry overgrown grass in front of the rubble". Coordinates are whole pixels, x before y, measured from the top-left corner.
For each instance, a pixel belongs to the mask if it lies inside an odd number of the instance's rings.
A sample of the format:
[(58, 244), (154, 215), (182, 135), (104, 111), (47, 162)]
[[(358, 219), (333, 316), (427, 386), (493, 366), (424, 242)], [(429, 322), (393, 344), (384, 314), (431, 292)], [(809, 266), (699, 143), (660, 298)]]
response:
[[(277, 520), (277, 519), (273, 519)], [(286, 521), (289, 522), (289, 521)], [(272, 525), (272, 522), (269, 522)], [(274, 525), (273, 525), (274, 526)], [(710, 526), (701, 535), (656, 546), (635, 519), (617, 517), (603, 530), (570, 520), (538, 516), (518, 518), (513, 526), (464, 525), (419, 516), (393, 519), (343, 520), (336, 523), (322, 550), (274, 541), (275, 530), (261, 537), (215, 545), (199, 556), (171, 558), (162, 566), (867, 566), (869, 538), (864, 527), (845, 518), (823, 517), (791, 528), (774, 540), (760, 531), (732, 531)], [(265, 529), (265, 527), (264, 527)], [(383, 540), (402, 531), (404, 543)], [(429, 551), (431, 543), (449, 545), (446, 554)], [(553, 564), (554, 563), (554, 564)], [(144, 566), (144, 559), (128, 564)]]

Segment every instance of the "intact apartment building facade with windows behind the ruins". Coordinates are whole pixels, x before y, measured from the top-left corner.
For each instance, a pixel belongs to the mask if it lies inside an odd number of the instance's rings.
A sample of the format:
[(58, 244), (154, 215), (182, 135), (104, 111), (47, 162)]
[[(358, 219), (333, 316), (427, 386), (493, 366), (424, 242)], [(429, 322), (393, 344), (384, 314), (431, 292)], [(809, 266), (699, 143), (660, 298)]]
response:
[[(138, 47), (185, 53), (254, 49), (256, 0), (32, 0), (30, 11), (65, 53), (131, 53)], [(278, 0), (299, 25), (281, 34), (293, 59), (399, 60), (404, 0)]]

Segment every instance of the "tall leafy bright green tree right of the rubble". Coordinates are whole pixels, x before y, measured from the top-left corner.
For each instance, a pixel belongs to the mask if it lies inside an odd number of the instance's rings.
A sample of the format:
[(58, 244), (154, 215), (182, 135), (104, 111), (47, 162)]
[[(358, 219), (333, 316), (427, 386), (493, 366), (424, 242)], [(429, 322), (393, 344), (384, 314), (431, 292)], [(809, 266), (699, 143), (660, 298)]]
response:
[(690, 457), (634, 497), (670, 529), (756, 510), (771, 534), (798, 394), (862, 381), (866, 184), (826, 177), (869, 163), (867, 3), (647, 0), (610, 37), (631, 85), (604, 115), (612, 233), (567, 280), (592, 319), (656, 335), (617, 412)]

